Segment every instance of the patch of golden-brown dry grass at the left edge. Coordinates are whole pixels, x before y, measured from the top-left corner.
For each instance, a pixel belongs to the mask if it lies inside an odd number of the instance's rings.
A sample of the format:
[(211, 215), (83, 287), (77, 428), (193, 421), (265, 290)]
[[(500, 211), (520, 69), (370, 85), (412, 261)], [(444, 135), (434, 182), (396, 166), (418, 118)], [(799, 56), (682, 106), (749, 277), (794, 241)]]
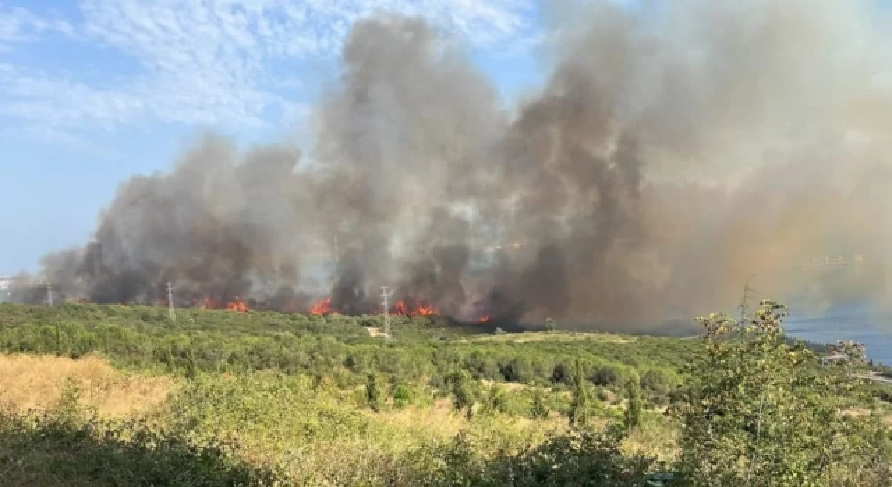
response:
[(152, 410), (176, 386), (171, 377), (127, 374), (96, 356), (0, 354), (0, 402), (18, 410), (44, 410), (59, 401), (69, 377), (80, 387), (81, 402), (109, 418)]

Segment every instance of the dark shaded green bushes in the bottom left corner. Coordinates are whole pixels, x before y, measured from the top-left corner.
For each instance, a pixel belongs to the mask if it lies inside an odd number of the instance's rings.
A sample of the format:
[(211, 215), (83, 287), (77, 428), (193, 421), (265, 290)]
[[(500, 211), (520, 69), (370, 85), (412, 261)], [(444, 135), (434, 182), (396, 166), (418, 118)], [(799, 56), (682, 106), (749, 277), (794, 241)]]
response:
[(85, 487), (274, 485), (283, 478), (239, 459), (228, 442), (196, 443), (147, 423), (9, 410), (0, 411), (0, 472), (4, 485)]

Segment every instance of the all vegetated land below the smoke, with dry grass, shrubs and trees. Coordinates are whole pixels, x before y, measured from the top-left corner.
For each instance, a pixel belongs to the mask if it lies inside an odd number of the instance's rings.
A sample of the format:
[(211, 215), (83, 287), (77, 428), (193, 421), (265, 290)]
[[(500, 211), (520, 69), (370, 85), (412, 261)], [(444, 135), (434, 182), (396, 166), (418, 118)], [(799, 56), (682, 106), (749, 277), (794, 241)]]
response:
[(785, 313), (387, 340), (381, 316), (0, 304), (0, 483), (887, 485), (888, 386)]

